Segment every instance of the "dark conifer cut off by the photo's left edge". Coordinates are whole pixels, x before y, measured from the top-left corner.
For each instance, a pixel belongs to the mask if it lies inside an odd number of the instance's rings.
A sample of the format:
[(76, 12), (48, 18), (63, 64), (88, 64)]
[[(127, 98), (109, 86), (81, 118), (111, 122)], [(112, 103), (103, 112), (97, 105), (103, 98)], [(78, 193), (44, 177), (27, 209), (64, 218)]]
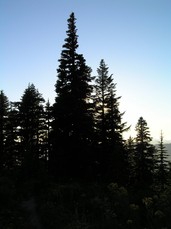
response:
[(0, 92), (0, 168), (12, 170), (19, 165), (18, 110), (16, 103), (9, 102)]

